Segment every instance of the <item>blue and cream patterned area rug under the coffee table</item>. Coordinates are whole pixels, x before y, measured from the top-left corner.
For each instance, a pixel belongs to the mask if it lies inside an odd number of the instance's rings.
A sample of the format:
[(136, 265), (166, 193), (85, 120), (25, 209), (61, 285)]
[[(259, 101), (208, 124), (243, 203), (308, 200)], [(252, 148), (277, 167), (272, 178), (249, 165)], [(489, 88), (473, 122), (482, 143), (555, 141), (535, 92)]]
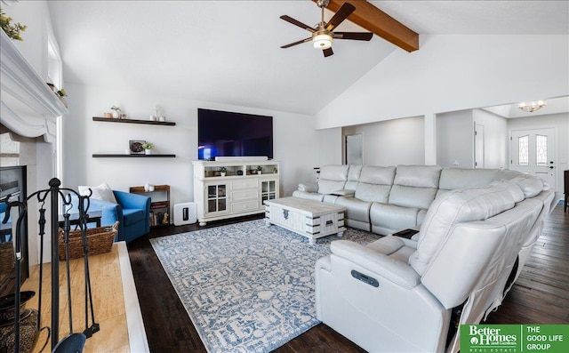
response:
[[(341, 238), (379, 237), (348, 229)], [(209, 352), (268, 352), (319, 323), (314, 266), (337, 239), (309, 245), (258, 220), (150, 242)]]

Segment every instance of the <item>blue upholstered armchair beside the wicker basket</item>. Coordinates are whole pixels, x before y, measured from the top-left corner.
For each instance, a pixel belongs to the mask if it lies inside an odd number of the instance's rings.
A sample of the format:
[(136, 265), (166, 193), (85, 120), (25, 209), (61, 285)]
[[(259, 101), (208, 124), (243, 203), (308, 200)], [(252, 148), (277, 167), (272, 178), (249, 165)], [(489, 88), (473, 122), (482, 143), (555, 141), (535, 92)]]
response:
[[(150, 231), (150, 197), (113, 190), (117, 204), (91, 198), (91, 211), (100, 211), (100, 225), (111, 226), (118, 221), (115, 241), (127, 243), (142, 237)], [(76, 209), (77, 202), (74, 202)]]

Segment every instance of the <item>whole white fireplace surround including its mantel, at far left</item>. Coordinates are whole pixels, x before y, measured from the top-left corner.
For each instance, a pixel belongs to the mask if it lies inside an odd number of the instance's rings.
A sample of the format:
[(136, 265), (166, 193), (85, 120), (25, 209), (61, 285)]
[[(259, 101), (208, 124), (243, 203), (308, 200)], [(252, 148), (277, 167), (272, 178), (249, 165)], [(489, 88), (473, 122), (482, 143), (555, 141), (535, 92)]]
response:
[[(12, 140), (25, 137), (29, 138), (27, 145), (35, 144), (27, 148), (24, 156), (20, 150), (18, 164), (28, 165), (26, 179), (30, 195), (38, 189), (47, 189), (47, 182), (55, 176), (57, 117), (67, 114), (68, 109), (3, 30), (0, 30), (0, 73), (0, 123), (11, 132)], [(37, 214), (28, 213), (29, 265), (39, 261), (37, 227)], [(46, 229), (44, 259), (50, 258), (47, 251), (51, 247), (50, 233)]]

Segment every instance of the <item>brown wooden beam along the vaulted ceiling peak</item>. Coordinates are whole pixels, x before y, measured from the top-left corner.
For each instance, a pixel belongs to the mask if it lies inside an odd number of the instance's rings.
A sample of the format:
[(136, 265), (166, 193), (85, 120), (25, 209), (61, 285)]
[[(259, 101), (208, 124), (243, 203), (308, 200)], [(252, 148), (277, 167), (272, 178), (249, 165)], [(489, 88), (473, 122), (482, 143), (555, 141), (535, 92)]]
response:
[[(316, 3), (317, 0), (312, 0)], [(356, 6), (348, 20), (407, 52), (419, 50), (419, 34), (365, 0), (330, 0), (326, 8), (337, 12), (344, 3)]]

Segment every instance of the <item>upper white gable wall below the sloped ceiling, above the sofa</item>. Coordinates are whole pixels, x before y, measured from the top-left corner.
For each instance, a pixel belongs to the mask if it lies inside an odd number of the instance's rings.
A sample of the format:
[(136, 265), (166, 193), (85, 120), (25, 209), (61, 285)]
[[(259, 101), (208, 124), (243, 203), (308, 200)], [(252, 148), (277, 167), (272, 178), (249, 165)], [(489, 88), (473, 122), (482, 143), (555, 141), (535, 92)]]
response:
[(568, 46), (561, 35), (421, 36), (420, 50), (393, 52), (323, 108), (317, 128), (565, 96)]

